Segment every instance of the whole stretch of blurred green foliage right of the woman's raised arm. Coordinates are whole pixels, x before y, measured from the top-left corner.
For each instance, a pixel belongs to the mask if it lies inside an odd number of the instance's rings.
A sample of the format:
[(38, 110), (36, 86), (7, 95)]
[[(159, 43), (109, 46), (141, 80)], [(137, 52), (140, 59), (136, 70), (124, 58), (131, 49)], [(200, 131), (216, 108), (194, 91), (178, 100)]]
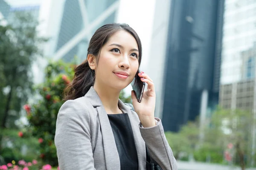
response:
[[(166, 132), (175, 158), (193, 153), (196, 161), (227, 163), (245, 167), (252, 165), (253, 113), (218, 108), (200, 131), (197, 122), (189, 122), (178, 133)], [(203, 134), (202, 140), (199, 136)], [(256, 150), (254, 150), (255, 153)]]

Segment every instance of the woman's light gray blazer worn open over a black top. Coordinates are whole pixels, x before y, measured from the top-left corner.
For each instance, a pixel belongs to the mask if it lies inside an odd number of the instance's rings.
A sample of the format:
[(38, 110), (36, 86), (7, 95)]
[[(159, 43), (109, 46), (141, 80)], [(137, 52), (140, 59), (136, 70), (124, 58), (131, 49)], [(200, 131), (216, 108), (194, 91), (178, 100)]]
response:
[[(177, 170), (161, 120), (155, 118), (156, 126), (143, 128), (136, 112), (121, 100), (118, 106), (123, 113), (128, 113), (131, 121), (139, 170), (146, 169), (145, 143), (151, 159), (163, 170)], [(108, 115), (93, 87), (85, 96), (68, 100), (61, 106), (56, 122), (55, 145), (61, 170), (120, 170)]]

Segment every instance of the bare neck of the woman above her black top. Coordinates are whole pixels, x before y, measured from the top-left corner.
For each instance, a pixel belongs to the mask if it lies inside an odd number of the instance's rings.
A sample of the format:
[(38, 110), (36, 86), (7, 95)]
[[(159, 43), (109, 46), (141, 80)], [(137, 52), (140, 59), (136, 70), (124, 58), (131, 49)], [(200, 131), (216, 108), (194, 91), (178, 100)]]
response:
[(105, 85), (99, 85), (95, 83), (93, 85), (94, 90), (99, 95), (102, 104), (108, 114), (118, 114), (120, 109), (118, 108), (118, 100), (120, 91), (106, 87)]

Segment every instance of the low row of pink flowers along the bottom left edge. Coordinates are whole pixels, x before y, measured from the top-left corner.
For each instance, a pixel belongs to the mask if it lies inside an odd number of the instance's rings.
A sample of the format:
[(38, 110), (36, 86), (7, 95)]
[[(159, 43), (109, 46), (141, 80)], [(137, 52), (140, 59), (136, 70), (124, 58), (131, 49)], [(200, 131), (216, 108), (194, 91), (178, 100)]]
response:
[[(0, 170), (53, 170), (52, 166), (49, 164), (45, 164), (44, 166), (40, 167), (38, 165), (37, 160), (33, 160), (32, 162), (26, 162), (24, 160), (20, 160), (18, 164), (15, 164), (15, 161), (12, 163), (8, 163), (6, 165), (0, 166)], [(59, 170), (59, 167), (58, 167)]]

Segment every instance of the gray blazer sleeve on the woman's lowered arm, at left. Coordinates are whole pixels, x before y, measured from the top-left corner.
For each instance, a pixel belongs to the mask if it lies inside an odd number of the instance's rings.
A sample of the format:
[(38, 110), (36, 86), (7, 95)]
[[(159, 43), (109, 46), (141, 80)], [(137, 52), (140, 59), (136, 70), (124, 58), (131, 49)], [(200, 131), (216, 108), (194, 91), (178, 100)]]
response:
[(95, 170), (90, 139), (90, 116), (82, 103), (66, 101), (60, 108), (55, 146), (61, 170)]

